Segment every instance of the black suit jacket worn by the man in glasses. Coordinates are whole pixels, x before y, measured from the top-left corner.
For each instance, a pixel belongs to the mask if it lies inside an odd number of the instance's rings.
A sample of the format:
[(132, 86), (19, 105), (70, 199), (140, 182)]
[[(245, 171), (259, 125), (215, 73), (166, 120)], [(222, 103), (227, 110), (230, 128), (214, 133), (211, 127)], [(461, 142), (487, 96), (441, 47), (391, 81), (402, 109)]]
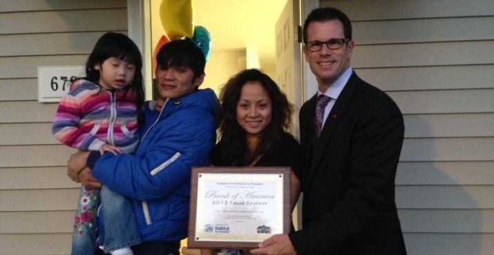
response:
[(303, 230), (298, 255), (406, 254), (395, 204), (403, 116), (381, 90), (353, 73), (312, 141), (316, 96), (300, 112)]

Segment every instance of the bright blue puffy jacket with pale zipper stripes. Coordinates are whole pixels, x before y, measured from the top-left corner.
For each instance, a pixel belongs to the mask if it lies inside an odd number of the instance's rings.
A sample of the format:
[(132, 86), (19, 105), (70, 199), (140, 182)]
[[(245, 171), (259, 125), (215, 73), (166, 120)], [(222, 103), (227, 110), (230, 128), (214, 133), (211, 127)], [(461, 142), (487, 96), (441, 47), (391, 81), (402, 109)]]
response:
[(93, 176), (131, 200), (142, 241), (187, 237), (191, 167), (209, 165), (217, 108), (206, 89), (168, 100), (161, 112), (147, 109), (135, 153), (96, 161)]

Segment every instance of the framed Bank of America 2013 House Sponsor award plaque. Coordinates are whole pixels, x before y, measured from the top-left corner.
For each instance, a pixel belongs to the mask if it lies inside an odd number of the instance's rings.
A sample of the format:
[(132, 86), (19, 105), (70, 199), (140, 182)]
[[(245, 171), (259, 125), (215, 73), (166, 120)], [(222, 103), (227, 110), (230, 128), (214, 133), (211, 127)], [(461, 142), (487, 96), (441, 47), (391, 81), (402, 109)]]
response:
[(193, 167), (189, 248), (249, 248), (290, 227), (289, 167)]

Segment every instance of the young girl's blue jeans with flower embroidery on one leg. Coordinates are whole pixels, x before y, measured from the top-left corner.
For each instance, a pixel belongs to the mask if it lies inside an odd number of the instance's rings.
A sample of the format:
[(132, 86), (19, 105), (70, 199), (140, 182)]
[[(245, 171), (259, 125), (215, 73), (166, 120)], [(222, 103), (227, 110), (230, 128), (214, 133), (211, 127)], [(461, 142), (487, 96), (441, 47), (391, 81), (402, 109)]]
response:
[[(104, 215), (104, 225), (100, 227), (98, 215)], [(72, 255), (94, 255), (98, 231), (104, 233), (104, 252), (141, 243), (130, 201), (105, 186), (99, 190), (83, 185), (75, 214)]]

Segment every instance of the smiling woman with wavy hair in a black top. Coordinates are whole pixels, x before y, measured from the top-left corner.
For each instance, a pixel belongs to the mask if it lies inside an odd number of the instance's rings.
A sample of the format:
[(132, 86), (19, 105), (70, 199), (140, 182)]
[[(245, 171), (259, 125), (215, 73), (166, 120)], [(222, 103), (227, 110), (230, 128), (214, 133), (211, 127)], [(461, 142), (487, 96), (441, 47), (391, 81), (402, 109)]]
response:
[(302, 151), (286, 132), (294, 112), (278, 85), (263, 72), (244, 70), (220, 92), (220, 141), (211, 164), (217, 166), (289, 166), (292, 209), (300, 194)]

